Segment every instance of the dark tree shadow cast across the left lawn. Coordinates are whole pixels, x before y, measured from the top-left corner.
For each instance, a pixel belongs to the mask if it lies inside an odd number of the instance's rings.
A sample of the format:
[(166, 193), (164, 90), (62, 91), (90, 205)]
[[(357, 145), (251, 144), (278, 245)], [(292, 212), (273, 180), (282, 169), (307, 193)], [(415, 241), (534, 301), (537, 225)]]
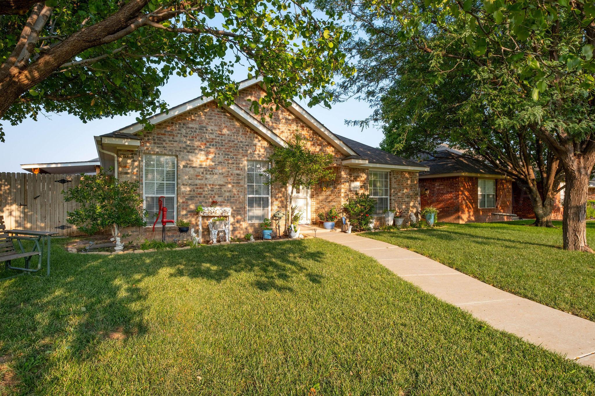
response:
[[(69, 360), (95, 359), (102, 343), (145, 334), (148, 295), (155, 292), (137, 286), (145, 278), (167, 288), (176, 277), (221, 283), (249, 273), (246, 287), (284, 293), (293, 292), (294, 277), (323, 280), (303, 262), (325, 254), (304, 241), (117, 256), (68, 254), (62, 244), (52, 244), (51, 277), (0, 282), (0, 357), (7, 356), (17, 387), (29, 391), (64, 359), (51, 358), (56, 350)], [(7, 275), (0, 271), (0, 277)]]

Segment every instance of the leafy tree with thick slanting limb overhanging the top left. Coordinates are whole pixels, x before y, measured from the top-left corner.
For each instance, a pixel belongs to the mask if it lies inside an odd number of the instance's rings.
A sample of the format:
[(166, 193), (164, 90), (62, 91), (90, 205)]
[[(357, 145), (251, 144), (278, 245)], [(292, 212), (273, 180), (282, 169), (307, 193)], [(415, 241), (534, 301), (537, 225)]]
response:
[(328, 105), (333, 74), (351, 72), (340, 15), (316, 18), (303, 0), (11, 0), (0, 14), (0, 119), (12, 125), (42, 110), (83, 122), (138, 111), (150, 129), (171, 75), (196, 74), (202, 94), (231, 104), (238, 62), (264, 75), (255, 112), (295, 96)]

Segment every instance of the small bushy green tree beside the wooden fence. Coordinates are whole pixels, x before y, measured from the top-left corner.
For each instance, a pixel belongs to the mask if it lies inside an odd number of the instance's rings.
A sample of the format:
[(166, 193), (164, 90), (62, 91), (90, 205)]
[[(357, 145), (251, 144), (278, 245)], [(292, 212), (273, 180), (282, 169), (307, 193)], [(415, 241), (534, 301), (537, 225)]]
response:
[(80, 208), (68, 212), (68, 223), (84, 233), (94, 234), (109, 228), (115, 238), (123, 227), (146, 225), (138, 181), (121, 181), (101, 169), (98, 175), (84, 175), (79, 186), (62, 193), (64, 201), (80, 204)]

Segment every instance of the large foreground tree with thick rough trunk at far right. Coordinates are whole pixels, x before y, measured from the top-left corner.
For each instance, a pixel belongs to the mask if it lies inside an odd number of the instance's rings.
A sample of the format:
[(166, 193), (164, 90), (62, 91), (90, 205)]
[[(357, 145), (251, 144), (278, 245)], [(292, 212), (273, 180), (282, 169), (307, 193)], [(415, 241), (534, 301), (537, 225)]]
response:
[[(512, 111), (496, 114), (531, 133), (560, 161), (566, 194), (565, 249), (591, 251), (585, 204), (595, 164), (595, 5), (583, 0), (350, 1), (355, 14), (390, 23), (360, 23), (425, 53), (437, 78), (459, 75), (480, 88), (474, 100)], [(336, 9), (336, 8), (334, 8)], [(369, 18), (368, 18), (369, 20)], [(452, 61), (453, 63), (449, 63)]]

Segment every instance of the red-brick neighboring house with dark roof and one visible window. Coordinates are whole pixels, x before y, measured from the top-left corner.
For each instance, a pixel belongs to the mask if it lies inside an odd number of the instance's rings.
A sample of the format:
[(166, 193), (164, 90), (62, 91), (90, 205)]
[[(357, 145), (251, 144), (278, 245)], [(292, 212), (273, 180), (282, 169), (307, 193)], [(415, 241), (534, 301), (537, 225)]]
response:
[(422, 165), (430, 170), (419, 173), (421, 208), (436, 207), (439, 221), (474, 223), (511, 220), (512, 180), (496, 169), (454, 151), (432, 154)]

